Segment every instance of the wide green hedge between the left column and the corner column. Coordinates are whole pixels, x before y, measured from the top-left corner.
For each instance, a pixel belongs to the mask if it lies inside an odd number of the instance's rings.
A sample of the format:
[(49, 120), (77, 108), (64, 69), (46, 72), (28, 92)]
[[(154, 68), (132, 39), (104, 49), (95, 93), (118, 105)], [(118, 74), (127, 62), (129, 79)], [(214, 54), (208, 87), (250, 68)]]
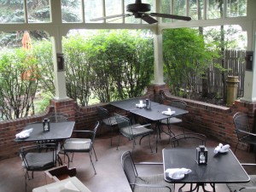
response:
[(124, 30), (67, 38), (68, 96), (84, 106), (91, 94), (100, 102), (142, 95), (152, 79), (154, 54), (152, 38), (140, 35)]

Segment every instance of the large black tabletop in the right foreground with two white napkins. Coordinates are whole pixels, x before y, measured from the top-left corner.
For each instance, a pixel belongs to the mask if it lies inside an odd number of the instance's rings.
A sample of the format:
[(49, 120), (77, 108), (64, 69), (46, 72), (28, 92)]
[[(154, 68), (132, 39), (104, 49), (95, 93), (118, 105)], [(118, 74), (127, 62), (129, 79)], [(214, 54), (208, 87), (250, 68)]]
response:
[(172, 179), (165, 174), (170, 183), (247, 183), (247, 172), (231, 150), (224, 154), (214, 154), (214, 148), (208, 149), (207, 165), (198, 165), (195, 161), (195, 148), (164, 148), (164, 170), (168, 168), (187, 168), (192, 172), (182, 179)]

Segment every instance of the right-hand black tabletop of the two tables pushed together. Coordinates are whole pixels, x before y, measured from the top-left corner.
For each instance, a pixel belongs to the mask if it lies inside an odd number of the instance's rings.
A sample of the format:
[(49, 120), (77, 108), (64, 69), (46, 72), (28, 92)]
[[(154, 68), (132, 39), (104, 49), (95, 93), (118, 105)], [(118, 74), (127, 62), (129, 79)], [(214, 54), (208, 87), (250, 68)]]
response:
[[(172, 114), (171, 116), (163, 114), (162, 112), (167, 111), (168, 108), (171, 108), (171, 110), (175, 111), (175, 113)], [(147, 119), (150, 119), (153, 121), (159, 121), (161, 119), (167, 119), (170, 117), (175, 117), (175, 116), (182, 115), (182, 114), (189, 113), (189, 112), (186, 110), (180, 109), (180, 108), (174, 108), (174, 107), (170, 107), (168, 105), (159, 104), (159, 105), (151, 106), (151, 108), (149, 108), (149, 109), (137, 108), (135, 110), (132, 110), (131, 113), (140, 115), (144, 118), (147, 118)]]

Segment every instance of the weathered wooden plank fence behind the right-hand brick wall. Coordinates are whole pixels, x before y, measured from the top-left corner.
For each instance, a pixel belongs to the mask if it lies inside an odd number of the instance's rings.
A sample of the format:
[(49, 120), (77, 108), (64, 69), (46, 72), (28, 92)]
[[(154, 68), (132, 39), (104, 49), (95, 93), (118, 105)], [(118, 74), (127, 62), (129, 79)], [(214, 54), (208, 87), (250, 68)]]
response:
[[(244, 50), (225, 50), (224, 52), (224, 68), (227, 70), (224, 73), (224, 82), (228, 76), (238, 76), (238, 90), (237, 96), (243, 96), (244, 92), (244, 76), (245, 76), (245, 53)], [(224, 95), (224, 83), (222, 80), (222, 73), (218, 67), (214, 67), (216, 64), (221, 66), (221, 59), (215, 59), (212, 61), (209, 69), (207, 70), (207, 89), (208, 93), (214, 93), (218, 96)], [(202, 92), (202, 80), (201, 78), (195, 78), (195, 85), (193, 86), (193, 92)]]

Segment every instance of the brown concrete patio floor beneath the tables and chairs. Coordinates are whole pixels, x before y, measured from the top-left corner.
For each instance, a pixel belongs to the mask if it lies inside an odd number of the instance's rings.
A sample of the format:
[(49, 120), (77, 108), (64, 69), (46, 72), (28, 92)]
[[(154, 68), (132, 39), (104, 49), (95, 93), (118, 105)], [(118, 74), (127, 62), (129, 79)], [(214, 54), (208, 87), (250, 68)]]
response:
[[(178, 126), (172, 125), (172, 131), (176, 134), (182, 133), (182, 129)], [(190, 132), (190, 131), (186, 131)], [(132, 142), (125, 137), (121, 137), (119, 150), (116, 150), (118, 143), (119, 131), (115, 130), (113, 133), (113, 146), (110, 146), (110, 132), (101, 135), (99, 130), (96, 136), (95, 149), (98, 161), (94, 161), (97, 174), (90, 165), (90, 158), (88, 154), (74, 154), (73, 162), (70, 167), (76, 167), (77, 175), (82, 183), (92, 192), (131, 192), (130, 186), (126, 180), (125, 174), (121, 167), (121, 155), (126, 151), (132, 149)], [(165, 133), (161, 133), (161, 140), (158, 145), (158, 153), (155, 153), (155, 137), (151, 137), (151, 143), (154, 153), (150, 152), (148, 146), (148, 139), (143, 139), (141, 145), (137, 144), (132, 152), (135, 162), (154, 161), (162, 162), (162, 149), (171, 147), (168, 144), (169, 137)], [(137, 141), (138, 143), (138, 141)], [(207, 147), (216, 147), (218, 141), (207, 138)], [(225, 143), (224, 143), (225, 144)], [(234, 148), (232, 148), (234, 151)], [(254, 163), (254, 154), (242, 150), (236, 151), (236, 157), (243, 163)], [(63, 158), (63, 157), (62, 157)], [(95, 156), (93, 155), (93, 160)], [(67, 159), (66, 159), (67, 163)], [(248, 174), (256, 174), (256, 167), (247, 168)], [(11, 158), (0, 161), (1, 179), (0, 192), (21, 192), (25, 191), (25, 171), (21, 166), (20, 157)], [(163, 166), (137, 166), (137, 171), (140, 175), (162, 173)], [(29, 180), (27, 191), (42, 186), (46, 183), (44, 172), (35, 172), (34, 178)], [(189, 187), (189, 186), (188, 186)], [(207, 186), (210, 189), (209, 186)], [(175, 192), (177, 192), (177, 187)], [(225, 184), (217, 184), (218, 192), (229, 192)]]

